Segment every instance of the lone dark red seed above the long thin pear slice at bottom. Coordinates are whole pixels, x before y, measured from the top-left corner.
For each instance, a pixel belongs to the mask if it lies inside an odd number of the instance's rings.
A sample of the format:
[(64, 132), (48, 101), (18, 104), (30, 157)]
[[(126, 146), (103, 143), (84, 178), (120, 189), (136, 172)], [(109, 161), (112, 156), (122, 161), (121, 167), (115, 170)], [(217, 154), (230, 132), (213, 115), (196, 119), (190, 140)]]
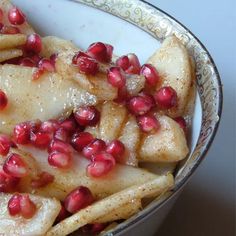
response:
[(76, 213), (92, 204), (93, 201), (94, 197), (91, 191), (87, 187), (80, 186), (66, 196), (64, 206), (68, 212)]

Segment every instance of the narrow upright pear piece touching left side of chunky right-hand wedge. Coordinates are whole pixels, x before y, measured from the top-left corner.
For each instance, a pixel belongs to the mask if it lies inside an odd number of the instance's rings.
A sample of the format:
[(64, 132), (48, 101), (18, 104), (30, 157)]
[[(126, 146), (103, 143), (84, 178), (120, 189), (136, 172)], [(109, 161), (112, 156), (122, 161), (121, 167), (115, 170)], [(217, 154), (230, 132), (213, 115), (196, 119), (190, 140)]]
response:
[(134, 116), (129, 118), (124, 125), (119, 140), (125, 145), (124, 164), (137, 166), (137, 149), (140, 143), (141, 133)]

